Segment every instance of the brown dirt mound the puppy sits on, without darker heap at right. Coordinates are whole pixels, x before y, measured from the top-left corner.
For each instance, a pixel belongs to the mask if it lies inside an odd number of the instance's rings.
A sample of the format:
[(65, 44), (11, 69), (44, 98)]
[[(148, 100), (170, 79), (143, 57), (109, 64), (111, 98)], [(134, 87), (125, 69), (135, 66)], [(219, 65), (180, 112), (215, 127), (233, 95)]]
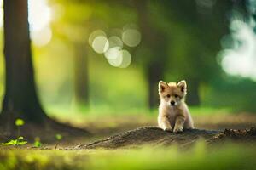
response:
[(80, 144), (76, 149), (117, 149), (136, 148), (143, 144), (171, 145), (193, 144), (197, 139), (211, 139), (218, 131), (208, 130), (185, 130), (183, 133), (171, 133), (159, 127), (139, 127), (126, 133), (114, 135), (108, 139), (102, 139), (91, 144)]

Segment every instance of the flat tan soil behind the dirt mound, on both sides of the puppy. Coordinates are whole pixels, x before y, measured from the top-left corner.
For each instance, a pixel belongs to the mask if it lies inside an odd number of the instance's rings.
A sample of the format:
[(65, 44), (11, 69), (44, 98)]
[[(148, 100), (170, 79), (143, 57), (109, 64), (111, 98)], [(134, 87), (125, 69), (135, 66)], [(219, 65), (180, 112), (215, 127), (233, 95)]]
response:
[[(256, 114), (217, 112), (208, 114), (195, 114), (193, 116), (195, 127), (197, 129), (224, 131), (224, 129), (246, 129), (256, 125)], [(77, 115), (73, 116), (70, 121), (69, 116), (59, 117), (59, 122), (69, 124), (73, 127), (85, 129), (89, 133), (69, 133), (63, 129), (59, 131), (34, 127), (26, 123), (24, 127), (20, 127), (20, 135), (24, 136), (31, 146), (34, 138), (39, 137), (44, 147), (54, 148), (56, 139), (55, 134), (61, 133), (60, 147), (73, 147), (79, 144), (90, 144), (99, 139), (106, 139), (117, 133), (125, 133), (136, 129), (137, 127), (155, 127), (156, 114), (132, 114), (132, 115)], [(98, 117), (101, 117), (100, 119)], [(1, 129), (0, 129), (1, 130)], [(3, 129), (0, 135), (0, 142), (5, 142), (7, 139), (3, 138)], [(27, 146), (26, 145), (26, 146)]]

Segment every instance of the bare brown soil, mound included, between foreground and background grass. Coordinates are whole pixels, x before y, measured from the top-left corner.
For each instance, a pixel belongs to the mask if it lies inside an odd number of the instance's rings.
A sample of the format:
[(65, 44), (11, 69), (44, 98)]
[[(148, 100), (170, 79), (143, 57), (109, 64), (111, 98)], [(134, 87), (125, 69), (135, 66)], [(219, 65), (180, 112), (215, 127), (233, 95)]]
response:
[[(156, 125), (154, 116), (102, 116), (101, 119), (84, 117), (77, 120), (80, 122), (61, 120), (63, 124), (52, 122), (46, 126), (26, 123), (20, 127), (20, 135), (29, 144), (21, 147), (32, 148), (36, 137), (43, 144), (40, 149), (55, 149), (57, 143), (58, 149), (116, 149), (137, 148), (143, 144), (178, 144), (183, 147), (195, 144), (198, 139), (203, 139), (208, 144), (221, 144), (230, 140), (255, 142), (255, 127), (250, 129), (256, 125), (255, 114), (194, 116), (197, 129), (183, 133), (170, 133), (152, 127)], [(246, 130), (247, 128), (250, 130)], [(62, 135), (61, 141), (55, 139), (56, 133)], [(8, 131), (0, 126), (0, 143), (15, 139), (16, 136), (17, 129), (9, 136)], [(6, 146), (0, 144), (0, 148), (5, 149)]]

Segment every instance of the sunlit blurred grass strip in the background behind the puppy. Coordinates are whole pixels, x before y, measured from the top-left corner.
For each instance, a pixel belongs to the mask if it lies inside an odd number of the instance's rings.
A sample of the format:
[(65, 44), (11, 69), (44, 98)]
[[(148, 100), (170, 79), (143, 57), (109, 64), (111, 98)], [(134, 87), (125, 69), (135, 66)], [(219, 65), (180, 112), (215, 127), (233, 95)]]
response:
[[(224, 116), (232, 114), (229, 109), (207, 108), (207, 107), (189, 107), (192, 116)], [(158, 110), (143, 110), (143, 111), (88, 111), (84, 110), (63, 110), (62, 107), (51, 107), (48, 110), (49, 116), (56, 117), (61, 122), (71, 122), (75, 126), (84, 126), (93, 124), (96, 127), (119, 127), (128, 124), (137, 123), (137, 126), (145, 124), (156, 125)], [(70, 119), (72, 117), (72, 119)], [(100, 119), (99, 119), (100, 117)]]

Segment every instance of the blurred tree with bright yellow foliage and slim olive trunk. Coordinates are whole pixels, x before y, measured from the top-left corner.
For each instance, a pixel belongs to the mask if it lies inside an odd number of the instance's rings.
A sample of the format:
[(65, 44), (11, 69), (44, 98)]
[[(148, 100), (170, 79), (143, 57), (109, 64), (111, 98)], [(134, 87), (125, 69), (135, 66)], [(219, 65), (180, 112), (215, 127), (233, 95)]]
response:
[[(56, 1), (56, 3), (60, 3)], [(66, 13), (52, 23), (55, 37), (73, 49), (73, 101), (76, 109), (89, 107), (89, 65), (88, 44), (90, 9), (85, 2), (61, 1)], [(75, 14), (74, 14), (75, 12)], [(63, 29), (65, 27), (65, 29)], [(72, 32), (72, 33), (71, 33)], [(78, 107), (77, 107), (78, 106)]]

